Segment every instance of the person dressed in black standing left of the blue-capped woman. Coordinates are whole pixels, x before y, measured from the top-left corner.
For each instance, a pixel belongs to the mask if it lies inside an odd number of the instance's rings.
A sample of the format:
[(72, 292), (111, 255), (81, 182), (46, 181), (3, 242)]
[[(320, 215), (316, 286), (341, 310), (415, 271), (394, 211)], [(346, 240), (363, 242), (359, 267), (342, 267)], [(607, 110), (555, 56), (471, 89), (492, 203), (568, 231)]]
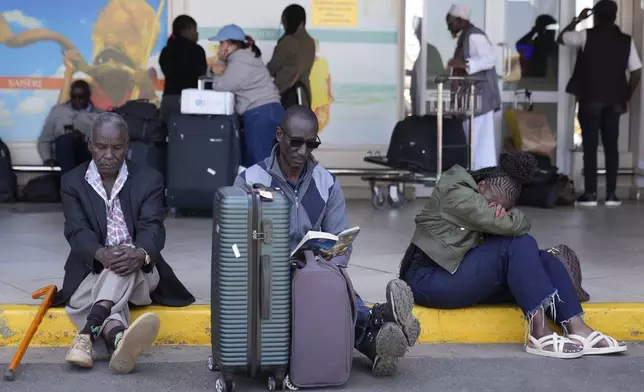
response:
[(180, 111), (181, 91), (197, 88), (200, 76), (206, 74), (208, 63), (206, 51), (197, 41), (197, 22), (188, 15), (179, 15), (172, 22), (172, 35), (161, 51), (159, 65), (165, 76), (161, 118)]

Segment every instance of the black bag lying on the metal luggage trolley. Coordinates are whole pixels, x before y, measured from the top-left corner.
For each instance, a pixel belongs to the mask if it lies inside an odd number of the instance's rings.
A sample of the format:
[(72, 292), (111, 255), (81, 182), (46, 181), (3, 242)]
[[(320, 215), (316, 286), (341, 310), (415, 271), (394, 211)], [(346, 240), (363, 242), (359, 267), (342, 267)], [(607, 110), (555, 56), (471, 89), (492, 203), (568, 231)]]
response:
[[(436, 116), (408, 116), (399, 121), (391, 134), (387, 161), (397, 169), (436, 172)], [(463, 120), (443, 119), (443, 171), (454, 165), (467, 167), (469, 147)]]

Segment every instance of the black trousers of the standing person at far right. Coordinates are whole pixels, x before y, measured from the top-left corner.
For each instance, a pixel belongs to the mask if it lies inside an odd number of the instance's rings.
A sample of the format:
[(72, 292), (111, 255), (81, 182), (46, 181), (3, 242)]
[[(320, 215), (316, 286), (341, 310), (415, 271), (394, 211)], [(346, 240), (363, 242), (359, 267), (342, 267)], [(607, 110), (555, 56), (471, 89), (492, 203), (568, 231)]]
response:
[(597, 192), (597, 148), (601, 131), (606, 161), (606, 193), (617, 189), (619, 168), (619, 117), (622, 111), (617, 105), (596, 102), (580, 102), (577, 118), (581, 126), (584, 149), (584, 188), (586, 193)]

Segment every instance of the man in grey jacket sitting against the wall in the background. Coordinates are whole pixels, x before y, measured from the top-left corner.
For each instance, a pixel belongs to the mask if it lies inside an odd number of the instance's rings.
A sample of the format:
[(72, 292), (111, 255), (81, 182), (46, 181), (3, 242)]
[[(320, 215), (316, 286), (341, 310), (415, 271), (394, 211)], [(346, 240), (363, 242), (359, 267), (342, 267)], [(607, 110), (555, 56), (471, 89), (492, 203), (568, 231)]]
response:
[(51, 109), (38, 137), (38, 153), (45, 165), (58, 165), (66, 173), (92, 158), (87, 138), (100, 110), (94, 107), (91, 97), (89, 84), (76, 80), (69, 102)]

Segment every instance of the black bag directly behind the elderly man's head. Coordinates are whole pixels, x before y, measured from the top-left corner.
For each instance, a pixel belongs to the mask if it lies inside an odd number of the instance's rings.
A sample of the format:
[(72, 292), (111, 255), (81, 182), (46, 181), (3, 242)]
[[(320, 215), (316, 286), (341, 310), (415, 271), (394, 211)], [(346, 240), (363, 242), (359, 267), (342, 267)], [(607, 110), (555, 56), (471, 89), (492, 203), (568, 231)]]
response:
[(165, 141), (167, 128), (159, 116), (159, 109), (147, 99), (127, 101), (112, 111), (120, 114), (127, 122), (130, 140)]

